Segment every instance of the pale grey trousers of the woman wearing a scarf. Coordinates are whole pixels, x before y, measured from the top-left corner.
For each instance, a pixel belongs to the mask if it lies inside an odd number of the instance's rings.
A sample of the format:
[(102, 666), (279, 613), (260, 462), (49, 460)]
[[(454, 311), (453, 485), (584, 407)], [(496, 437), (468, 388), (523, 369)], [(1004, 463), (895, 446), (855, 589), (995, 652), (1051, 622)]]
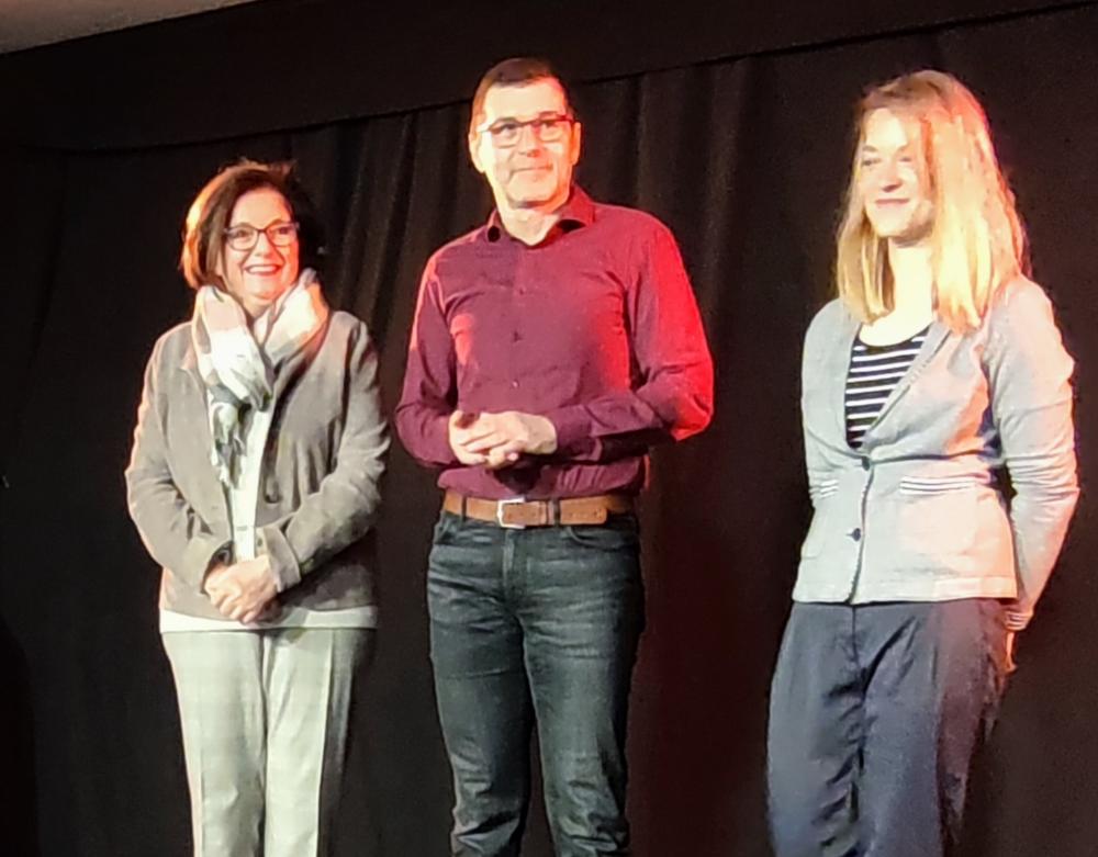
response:
[(161, 636), (176, 679), (195, 857), (332, 847), (351, 691), (368, 629)]

